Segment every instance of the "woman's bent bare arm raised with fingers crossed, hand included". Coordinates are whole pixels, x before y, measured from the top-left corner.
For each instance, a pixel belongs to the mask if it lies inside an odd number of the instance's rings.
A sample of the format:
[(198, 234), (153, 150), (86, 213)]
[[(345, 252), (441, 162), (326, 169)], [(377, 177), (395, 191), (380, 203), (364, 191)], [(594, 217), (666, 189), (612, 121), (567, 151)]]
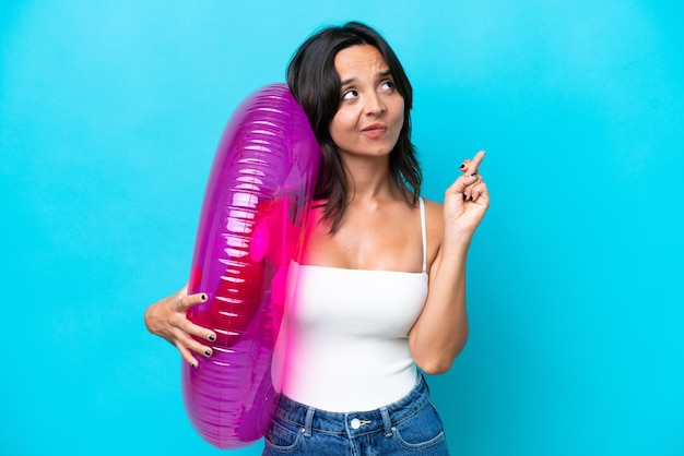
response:
[(429, 265), (427, 301), (409, 334), (413, 360), (428, 374), (447, 372), (468, 339), (465, 262), (473, 233), (490, 206), (487, 187), (479, 173), (483, 158), (481, 151), (463, 161), (463, 175), (445, 193), (443, 215), (428, 215), (428, 220), (444, 223), (444, 231)]

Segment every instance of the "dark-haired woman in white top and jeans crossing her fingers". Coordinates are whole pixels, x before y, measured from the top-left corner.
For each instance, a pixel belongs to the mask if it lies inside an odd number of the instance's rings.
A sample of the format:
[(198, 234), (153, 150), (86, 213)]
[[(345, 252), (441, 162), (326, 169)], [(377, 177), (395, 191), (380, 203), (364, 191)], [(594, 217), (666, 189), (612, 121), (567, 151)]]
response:
[[(468, 338), (465, 260), (490, 204), (484, 152), (460, 165), (444, 204), (421, 197), (412, 87), (366, 25), (310, 36), (287, 83), (323, 156), (263, 454), (446, 455), (422, 372), (447, 372)], [(184, 288), (145, 312), (193, 365), (211, 348), (191, 336), (215, 338), (185, 315), (204, 299)]]

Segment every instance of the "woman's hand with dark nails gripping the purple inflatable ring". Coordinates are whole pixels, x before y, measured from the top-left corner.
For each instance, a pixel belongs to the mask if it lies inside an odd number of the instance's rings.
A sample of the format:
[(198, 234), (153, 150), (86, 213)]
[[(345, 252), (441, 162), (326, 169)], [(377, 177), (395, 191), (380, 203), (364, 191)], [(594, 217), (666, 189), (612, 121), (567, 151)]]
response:
[(216, 340), (216, 335), (212, 331), (196, 325), (186, 316), (188, 309), (205, 301), (207, 293), (188, 295), (186, 284), (176, 293), (156, 301), (145, 311), (148, 331), (175, 345), (182, 358), (193, 368), (197, 368), (198, 361), (192, 352), (209, 358), (212, 351), (211, 347), (200, 344), (192, 336), (209, 341)]

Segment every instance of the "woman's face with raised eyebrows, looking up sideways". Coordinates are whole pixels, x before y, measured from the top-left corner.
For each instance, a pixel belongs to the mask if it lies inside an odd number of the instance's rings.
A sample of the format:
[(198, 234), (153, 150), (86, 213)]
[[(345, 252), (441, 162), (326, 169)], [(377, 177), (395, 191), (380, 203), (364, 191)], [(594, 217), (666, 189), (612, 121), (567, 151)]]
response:
[(404, 99), (387, 62), (377, 48), (361, 45), (339, 51), (334, 67), (342, 91), (330, 135), (340, 154), (389, 155), (403, 127)]

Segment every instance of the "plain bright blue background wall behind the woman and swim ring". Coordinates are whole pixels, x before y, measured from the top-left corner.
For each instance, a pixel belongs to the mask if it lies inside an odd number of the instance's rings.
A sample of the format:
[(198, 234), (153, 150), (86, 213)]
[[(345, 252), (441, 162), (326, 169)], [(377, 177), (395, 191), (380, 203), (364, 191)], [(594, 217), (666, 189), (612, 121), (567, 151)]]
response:
[(681, 4), (3, 1), (0, 453), (221, 453), (142, 315), (233, 109), (361, 20), (412, 79), (425, 194), (488, 151), (470, 341), (429, 379), (452, 452), (684, 454)]

